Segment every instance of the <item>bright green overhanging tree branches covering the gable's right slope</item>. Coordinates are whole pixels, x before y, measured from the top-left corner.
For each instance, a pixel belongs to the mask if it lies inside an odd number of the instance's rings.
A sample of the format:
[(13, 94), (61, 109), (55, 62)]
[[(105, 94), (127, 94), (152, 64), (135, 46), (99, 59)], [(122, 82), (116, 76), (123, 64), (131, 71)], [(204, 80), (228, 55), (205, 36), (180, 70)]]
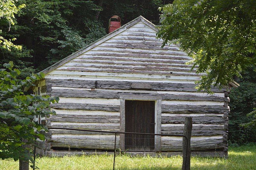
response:
[(159, 10), (157, 36), (164, 44), (180, 43), (198, 66), (196, 73), (207, 73), (197, 82), (199, 90), (211, 93), (212, 84), (223, 88), (256, 65), (256, 1), (175, 0)]

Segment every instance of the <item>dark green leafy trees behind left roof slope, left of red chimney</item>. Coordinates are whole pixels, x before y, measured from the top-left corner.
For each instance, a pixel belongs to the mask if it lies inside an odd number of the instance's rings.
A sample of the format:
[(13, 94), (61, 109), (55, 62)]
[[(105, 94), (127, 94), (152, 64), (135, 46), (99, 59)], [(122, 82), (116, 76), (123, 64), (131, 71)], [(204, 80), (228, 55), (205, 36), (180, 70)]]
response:
[(20, 0), (19, 3), (26, 4), (26, 8), (16, 17), (12, 34), (19, 35), (17, 43), (33, 50), (37, 71), (106, 35), (101, 22), (94, 18), (101, 8), (93, 1)]

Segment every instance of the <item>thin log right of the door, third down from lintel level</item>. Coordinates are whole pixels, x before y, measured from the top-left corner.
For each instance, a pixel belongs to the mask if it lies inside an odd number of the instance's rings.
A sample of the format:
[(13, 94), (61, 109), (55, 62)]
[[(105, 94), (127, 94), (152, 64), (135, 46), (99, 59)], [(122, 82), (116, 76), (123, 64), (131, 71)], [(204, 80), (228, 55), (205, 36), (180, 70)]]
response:
[[(175, 125), (175, 124), (173, 124)], [(173, 125), (168, 125), (166, 124), (165, 126), (162, 125), (161, 129), (162, 131), (174, 131), (174, 130), (183, 130), (184, 129), (184, 125), (180, 125), (180, 126), (173, 126)], [(192, 132), (193, 130), (228, 130), (228, 127), (224, 125), (204, 125), (204, 124), (193, 124), (192, 126)]]

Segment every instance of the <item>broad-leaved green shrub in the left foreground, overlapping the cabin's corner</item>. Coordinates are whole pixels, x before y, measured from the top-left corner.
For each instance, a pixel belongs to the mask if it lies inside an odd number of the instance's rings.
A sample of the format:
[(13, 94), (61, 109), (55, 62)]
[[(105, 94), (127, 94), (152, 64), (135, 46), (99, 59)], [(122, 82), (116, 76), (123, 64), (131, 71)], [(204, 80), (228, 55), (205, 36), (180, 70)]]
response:
[(44, 126), (33, 121), (33, 118), (35, 115), (47, 117), (54, 114), (48, 106), (58, 102), (59, 98), (26, 94), (24, 91), (35, 86), (34, 82), (41, 80), (43, 73), (20, 80), (17, 76), (21, 72), (13, 69), (13, 62), (3, 66), (5, 69), (0, 69), (0, 158), (33, 161), (31, 155), (25, 152), (26, 148), (22, 147), (35, 144), (36, 138), (44, 140), (44, 135), (39, 133)]

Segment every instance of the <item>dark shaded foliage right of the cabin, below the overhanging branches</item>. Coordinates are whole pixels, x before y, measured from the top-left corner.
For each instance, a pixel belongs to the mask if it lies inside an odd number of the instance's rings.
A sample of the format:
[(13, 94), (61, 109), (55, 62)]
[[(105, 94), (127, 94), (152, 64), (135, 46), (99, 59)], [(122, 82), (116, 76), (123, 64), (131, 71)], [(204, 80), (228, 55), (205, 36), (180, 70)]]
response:
[[(256, 73), (250, 68), (243, 72), (242, 75), (244, 77), (243, 80), (236, 80), (240, 86), (232, 88), (229, 94), (228, 138), (231, 143), (237, 144), (256, 141), (256, 126), (252, 126), (253, 122), (255, 122), (255, 117), (246, 116), (250, 112), (253, 114), (253, 108), (256, 107)], [(241, 124), (244, 126), (240, 126)]]

